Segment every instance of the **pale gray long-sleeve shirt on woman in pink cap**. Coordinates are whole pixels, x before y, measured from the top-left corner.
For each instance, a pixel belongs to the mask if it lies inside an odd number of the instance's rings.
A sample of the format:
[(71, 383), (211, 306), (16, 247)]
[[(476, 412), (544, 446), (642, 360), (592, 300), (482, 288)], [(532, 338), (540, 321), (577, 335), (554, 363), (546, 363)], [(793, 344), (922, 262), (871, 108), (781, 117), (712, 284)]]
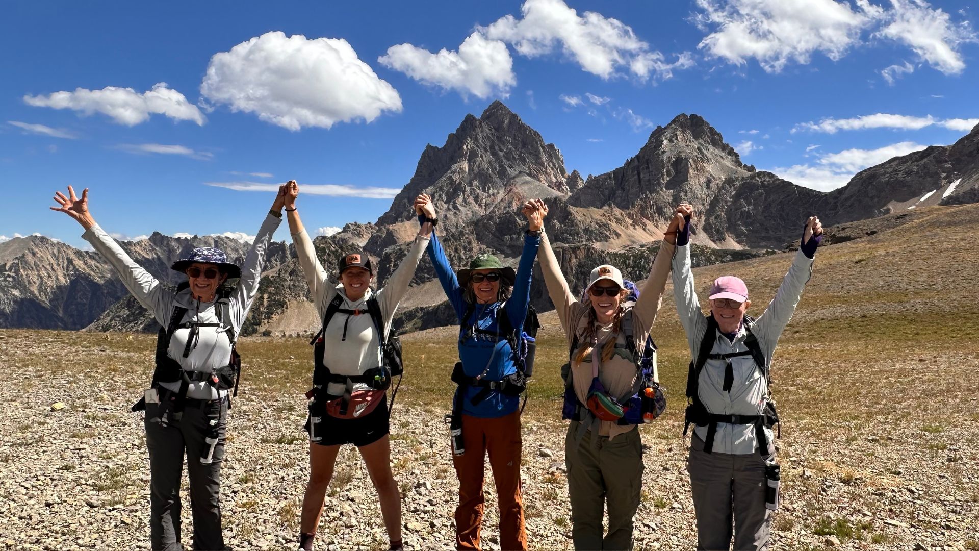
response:
[[(778, 344), (778, 337), (792, 319), (812, 270), (813, 259), (808, 258), (802, 251), (797, 252), (775, 297), (752, 326), (752, 332), (758, 339), (766, 358), (771, 358)], [(686, 331), (690, 356), (696, 358), (700, 353), (704, 332), (707, 331), (707, 319), (701, 312), (693, 274), (690, 273), (689, 244), (676, 247), (673, 282), (679, 322)], [(748, 331), (743, 324), (733, 341), (727, 340), (720, 330), (716, 332), (712, 354), (748, 351), (748, 347), (744, 344)], [(726, 361), (707, 360), (697, 378), (697, 395), (700, 401), (712, 414), (761, 415), (768, 396), (768, 381), (762, 374), (762, 370), (751, 356), (737, 356), (731, 358), (730, 363), (734, 373), (734, 383), (731, 385), (730, 392), (727, 392), (723, 390)], [(694, 431), (697, 436), (706, 440), (707, 426), (697, 426)], [(771, 431), (768, 428), (766, 434), (770, 441)], [(768, 442), (763, 442), (762, 445), (767, 446)], [(756, 452), (757, 446), (755, 426), (718, 424), (714, 435), (714, 453), (750, 454)]]

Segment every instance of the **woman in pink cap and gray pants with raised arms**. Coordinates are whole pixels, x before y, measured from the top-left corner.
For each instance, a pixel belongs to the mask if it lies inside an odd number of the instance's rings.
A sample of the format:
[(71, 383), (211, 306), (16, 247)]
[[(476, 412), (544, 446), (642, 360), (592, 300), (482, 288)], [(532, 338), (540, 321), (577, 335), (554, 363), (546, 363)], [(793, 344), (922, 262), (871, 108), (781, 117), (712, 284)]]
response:
[(771, 431), (778, 422), (769, 396), (771, 353), (813, 274), (822, 225), (816, 217), (806, 222), (788, 274), (765, 312), (752, 319), (745, 314), (751, 306), (748, 287), (733, 275), (714, 280), (711, 315), (703, 315), (690, 273), (690, 208), (677, 209), (677, 219), (673, 279), (693, 358), (686, 426), (695, 426), (688, 471), (697, 549), (730, 548), (732, 522), (734, 549), (767, 549), (779, 478)]

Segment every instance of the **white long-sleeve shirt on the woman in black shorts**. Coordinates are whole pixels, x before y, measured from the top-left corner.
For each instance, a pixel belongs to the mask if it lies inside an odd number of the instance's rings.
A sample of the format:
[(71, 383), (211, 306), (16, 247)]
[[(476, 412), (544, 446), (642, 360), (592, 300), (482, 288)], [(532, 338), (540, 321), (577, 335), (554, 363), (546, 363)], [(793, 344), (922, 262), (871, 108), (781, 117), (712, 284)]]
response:
[[(296, 256), (299, 257), (300, 266), (303, 268), (306, 282), (312, 293), (313, 303), (319, 313), (320, 320), (326, 315), (326, 309), (330, 306), (330, 301), (338, 294), (343, 297), (344, 302), (340, 305), (346, 310), (360, 310), (363, 314), (354, 316), (352, 314), (336, 314), (330, 325), (323, 332), (323, 365), (326, 366), (333, 375), (358, 376), (370, 369), (381, 365), (381, 341), (378, 340), (377, 330), (370, 314), (367, 313), (367, 300), (377, 297), (378, 305), (381, 307), (381, 316), (384, 319), (384, 334), (387, 335), (391, 330), (391, 321), (395, 317), (397, 305), (401, 302), (411, 278), (415, 275), (418, 261), (428, 247), (429, 238), (416, 235), (408, 254), (401, 260), (397, 270), (388, 279), (388, 284), (377, 292), (367, 289), (359, 300), (351, 301), (344, 292), (343, 284), (330, 281), (323, 269), (323, 265), (316, 258), (316, 250), (313, 248), (312, 240), (305, 229), (298, 233), (293, 233), (293, 243), (296, 244)], [(348, 320), (349, 318), (349, 320)], [(346, 326), (347, 338), (343, 339)], [(370, 387), (364, 383), (354, 384), (353, 390), (366, 390)], [(326, 389), (328, 394), (339, 396), (344, 393), (344, 385), (331, 382)]]

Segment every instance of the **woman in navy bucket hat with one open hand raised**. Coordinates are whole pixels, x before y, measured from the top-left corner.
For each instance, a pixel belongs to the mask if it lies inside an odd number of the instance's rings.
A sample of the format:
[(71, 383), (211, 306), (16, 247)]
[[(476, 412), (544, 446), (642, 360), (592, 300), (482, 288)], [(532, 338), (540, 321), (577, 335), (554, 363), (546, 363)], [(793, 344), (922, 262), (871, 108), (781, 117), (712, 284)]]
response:
[[(220, 249), (194, 249), (173, 263), (187, 275), (177, 290), (164, 287), (119, 247), (81, 198), (56, 192), (60, 211), (85, 228), (82, 238), (116, 271), (126, 289), (165, 329), (158, 343), (153, 385), (134, 411), (146, 408), (144, 426), (150, 451), (150, 541), (153, 551), (179, 551), (180, 478), (184, 454), (190, 478), (194, 548), (223, 550), (218, 499), (229, 408), (229, 388), (237, 377), (235, 340), (255, 301), (265, 252), (282, 221), (285, 186), (258, 228), (243, 267), (228, 262)], [(239, 278), (234, 287), (222, 285)]]

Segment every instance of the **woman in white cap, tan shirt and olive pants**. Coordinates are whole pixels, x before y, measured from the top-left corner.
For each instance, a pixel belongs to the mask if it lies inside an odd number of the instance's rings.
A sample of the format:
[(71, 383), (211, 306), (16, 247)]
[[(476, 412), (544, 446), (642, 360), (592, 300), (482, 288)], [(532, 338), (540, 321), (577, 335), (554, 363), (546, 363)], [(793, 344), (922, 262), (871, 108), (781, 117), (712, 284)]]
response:
[[(539, 199), (525, 209), (542, 224), (547, 206)], [(535, 224), (532, 222), (532, 224)], [(565, 439), (565, 463), (571, 496), (572, 539), (576, 549), (632, 549), (632, 518), (639, 507), (642, 485), (642, 442), (635, 424), (612, 419), (602, 411), (615, 408), (620, 397), (630, 396), (640, 376), (627, 349), (623, 320), (630, 317), (634, 342), (644, 343), (649, 335), (670, 274), (678, 221), (667, 229), (659, 254), (653, 262), (645, 288), (638, 300), (629, 295), (622, 273), (602, 265), (588, 277), (587, 302), (578, 300), (561, 274), (546, 234), (540, 241), (537, 260), (547, 293), (557, 308), (570, 351), (570, 383), (578, 398), (576, 414)], [(608, 507), (608, 533), (602, 537), (602, 515)]]

